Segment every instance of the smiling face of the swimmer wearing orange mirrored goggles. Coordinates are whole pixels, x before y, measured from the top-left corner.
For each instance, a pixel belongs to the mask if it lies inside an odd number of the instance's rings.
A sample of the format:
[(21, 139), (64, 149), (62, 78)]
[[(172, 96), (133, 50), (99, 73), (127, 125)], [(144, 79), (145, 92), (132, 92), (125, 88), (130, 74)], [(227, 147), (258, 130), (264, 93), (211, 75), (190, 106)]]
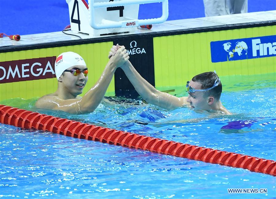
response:
[[(67, 70), (71, 69), (79, 69), (84, 71), (87, 70), (87, 67), (84, 65), (76, 65), (67, 68)], [(80, 95), (88, 80), (88, 76), (84, 76), (83, 72), (80, 72), (77, 76), (74, 76), (71, 72), (63, 72), (63, 75), (61, 76), (64, 89), (66, 89), (72, 96)]]

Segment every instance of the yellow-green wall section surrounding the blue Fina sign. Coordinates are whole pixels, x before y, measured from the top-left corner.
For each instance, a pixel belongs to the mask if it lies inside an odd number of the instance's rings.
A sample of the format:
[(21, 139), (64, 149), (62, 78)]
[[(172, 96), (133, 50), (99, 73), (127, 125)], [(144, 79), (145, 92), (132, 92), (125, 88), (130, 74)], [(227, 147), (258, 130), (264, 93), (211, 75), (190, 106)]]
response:
[(276, 26), (154, 37), (155, 86), (180, 86), (196, 74), (219, 76), (275, 73), (276, 57), (212, 63), (211, 41), (276, 35)]

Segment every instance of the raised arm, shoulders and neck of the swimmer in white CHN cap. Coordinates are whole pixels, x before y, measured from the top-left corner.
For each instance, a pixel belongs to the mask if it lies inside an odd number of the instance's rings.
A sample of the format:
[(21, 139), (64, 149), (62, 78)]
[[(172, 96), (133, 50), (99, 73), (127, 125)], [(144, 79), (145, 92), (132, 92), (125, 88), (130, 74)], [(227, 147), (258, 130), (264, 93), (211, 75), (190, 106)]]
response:
[[(118, 55), (117, 55), (118, 53)], [(76, 114), (84, 114), (93, 112), (96, 107), (98, 107), (99, 103), (103, 99), (103, 96), (112, 80), (114, 72), (116, 68), (120, 65), (124, 64), (126, 60), (129, 59), (128, 54), (126, 54), (126, 50), (124, 47), (120, 48), (117, 51), (116, 55), (111, 57), (109, 62), (107, 63), (102, 75), (99, 80), (95, 83), (95, 85), (81, 98), (76, 99), (76, 96), (69, 94), (67, 88), (70, 88), (70, 85), (66, 87), (62, 87), (65, 89), (59, 89), (52, 94), (41, 97), (37, 100), (36, 107), (37, 108), (45, 108), (45, 109), (55, 109), (62, 110), (69, 113)], [(84, 66), (78, 66), (84, 67)], [(72, 67), (71, 67), (72, 68)], [(69, 69), (71, 69), (69, 68)], [(85, 68), (81, 68), (81, 70), (85, 70)], [(83, 72), (80, 72), (77, 75), (77, 82), (84, 82), (85, 76)], [(70, 80), (64, 78), (63, 75), (60, 76), (59, 81), (64, 81), (64, 84), (67, 82), (71, 83)], [(73, 82), (74, 83), (74, 82)], [(74, 83), (76, 84), (76, 83)], [(80, 83), (78, 83), (80, 84)], [(73, 88), (72, 88), (73, 89)]]

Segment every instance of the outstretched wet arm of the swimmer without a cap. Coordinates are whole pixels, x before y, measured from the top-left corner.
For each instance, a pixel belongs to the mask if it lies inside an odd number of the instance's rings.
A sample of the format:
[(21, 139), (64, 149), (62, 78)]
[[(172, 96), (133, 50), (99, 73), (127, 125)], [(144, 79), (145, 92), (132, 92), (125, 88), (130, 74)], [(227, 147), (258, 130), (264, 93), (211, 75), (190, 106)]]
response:
[(154, 88), (136, 71), (130, 61), (127, 61), (121, 68), (139, 95), (148, 103), (167, 110), (173, 110), (186, 104), (185, 97), (178, 98)]

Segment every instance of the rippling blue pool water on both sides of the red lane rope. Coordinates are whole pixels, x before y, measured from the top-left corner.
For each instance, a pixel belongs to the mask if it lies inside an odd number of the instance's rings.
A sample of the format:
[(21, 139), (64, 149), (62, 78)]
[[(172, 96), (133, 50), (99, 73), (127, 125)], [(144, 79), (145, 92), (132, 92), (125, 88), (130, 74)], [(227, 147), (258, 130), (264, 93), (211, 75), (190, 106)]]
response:
[[(222, 103), (234, 115), (208, 117), (208, 112), (189, 108), (165, 111), (139, 99), (102, 103), (87, 115), (37, 110), (34, 99), (1, 103), (140, 135), (276, 160), (275, 74), (248, 78), (221, 78)], [(184, 88), (176, 88), (171, 94), (187, 95)], [(3, 124), (0, 135), (0, 197), (4, 198), (276, 197), (275, 177), (267, 174)], [(228, 188), (264, 188), (267, 193), (228, 194)]]

